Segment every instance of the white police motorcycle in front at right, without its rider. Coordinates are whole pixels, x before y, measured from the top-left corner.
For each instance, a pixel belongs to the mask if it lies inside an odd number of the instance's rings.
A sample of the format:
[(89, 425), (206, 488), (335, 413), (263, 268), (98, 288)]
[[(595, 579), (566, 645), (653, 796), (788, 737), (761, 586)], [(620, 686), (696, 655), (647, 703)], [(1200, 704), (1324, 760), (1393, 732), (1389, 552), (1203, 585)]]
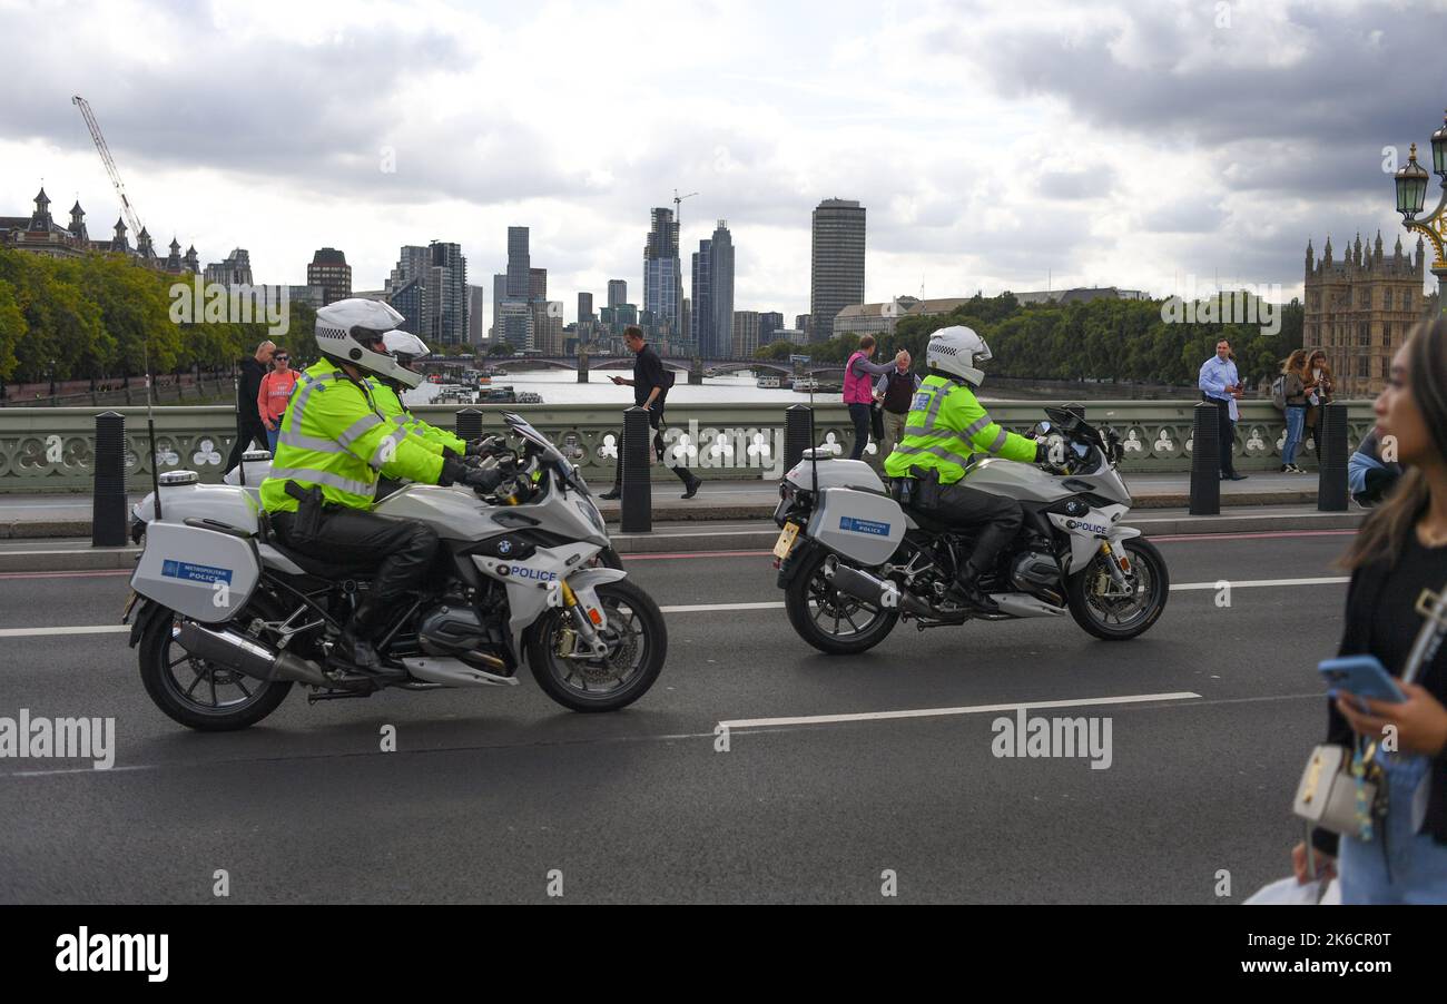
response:
[(887, 489), (860, 460), (806, 450), (780, 483), (774, 522), (778, 587), (800, 638), (829, 654), (857, 654), (900, 621), (926, 628), (971, 619), (1058, 618), (1110, 641), (1145, 634), (1165, 611), (1171, 579), (1160, 553), (1121, 525), (1130, 492), (1119, 437), (1065, 408), (1046, 408), (1040, 464), (998, 457), (967, 467), (969, 488), (1016, 499), (1023, 524), (980, 587), (998, 605), (983, 613), (951, 586), (974, 534), (932, 519), (928, 479)]

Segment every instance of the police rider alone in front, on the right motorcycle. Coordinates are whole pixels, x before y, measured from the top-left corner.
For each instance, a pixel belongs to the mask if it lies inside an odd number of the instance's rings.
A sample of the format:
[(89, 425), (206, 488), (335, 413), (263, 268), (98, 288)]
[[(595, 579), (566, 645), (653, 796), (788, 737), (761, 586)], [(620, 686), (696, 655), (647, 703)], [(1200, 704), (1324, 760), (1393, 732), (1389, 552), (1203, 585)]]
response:
[(1039, 463), (1046, 447), (1000, 428), (975, 398), (975, 388), (985, 376), (977, 363), (990, 359), (990, 346), (972, 328), (954, 326), (930, 336), (929, 376), (915, 393), (904, 438), (886, 459), (884, 472), (890, 477), (926, 477), (938, 472), (936, 518), (956, 525), (983, 524), (969, 560), (958, 570), (956, 589), (969, 606), (998, 613), (1000, 606), (980, 589), (980, 576), (1019, 531), (1024, 514), (1011, 498), (965, 485), (965, 466), (971, 453)]

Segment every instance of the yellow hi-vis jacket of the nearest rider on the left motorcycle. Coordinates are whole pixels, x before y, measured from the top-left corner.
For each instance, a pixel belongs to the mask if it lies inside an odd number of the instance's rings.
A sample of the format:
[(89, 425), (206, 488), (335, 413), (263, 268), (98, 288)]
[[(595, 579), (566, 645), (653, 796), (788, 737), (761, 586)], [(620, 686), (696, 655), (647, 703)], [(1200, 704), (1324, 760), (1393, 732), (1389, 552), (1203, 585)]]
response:
[(295, 512), (287, 482), (321, 489), (327, 502), (372, 508), (378, 475), (436, 485), (443, 459), (382, 418), (368, 389), (323, 359), (302, 373), (281, 421), (262, 508)]

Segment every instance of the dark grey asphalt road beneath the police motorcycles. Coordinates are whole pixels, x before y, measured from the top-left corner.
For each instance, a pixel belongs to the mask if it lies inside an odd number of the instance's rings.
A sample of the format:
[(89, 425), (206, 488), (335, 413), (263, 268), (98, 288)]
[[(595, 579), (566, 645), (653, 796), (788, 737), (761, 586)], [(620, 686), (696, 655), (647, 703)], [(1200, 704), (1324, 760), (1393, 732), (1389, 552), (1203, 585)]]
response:
[[(1174, 583), (1237, 583), (1231, 603), (1178, 590), (1126, 644), (1020, 621), (839, 658), (781, 609), (673, 612), (658, 684), (621, 713), (564, 712), (530, 678), (317, 706), (297, 689), (227, 735), (155, 709), (123, 635), (64, 631), (114, 624), (123, 574), (0, 576), (0, 716), (116, 719), (113, 770), (0, 758), (0, 901), (205, 903), (224, 869), (230, 901), (546, 903), (556, 869), (566, 903), (878, 903), (886, 871), (899, 901), (1239, 903), (1288, 872), (1346, 593), (1239, 583), (1340, 576), (1347, 540), (1163, 540)], [(781, 600), (763, 554), (627, 567), (666, 608)], [(1106, 770), (997, 758), (1013, 713), (968, 710), (1140, 696), (1032, 712), (1108, 719)], [(767, 722), (926, 709), (956, 710)], [(721, 722), (744, 722), (726, 752)]]

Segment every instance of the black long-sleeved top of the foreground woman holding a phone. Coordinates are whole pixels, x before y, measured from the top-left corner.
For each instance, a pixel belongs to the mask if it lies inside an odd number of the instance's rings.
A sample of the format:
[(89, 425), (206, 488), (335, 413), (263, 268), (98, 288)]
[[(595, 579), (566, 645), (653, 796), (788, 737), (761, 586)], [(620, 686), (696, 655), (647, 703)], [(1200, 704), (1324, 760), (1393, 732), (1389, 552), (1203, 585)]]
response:
[[(1415, 611), (1422, 589), (1434, 593), (1447, 586), (1447, 545), (1422, 547), (1415, 529), (1408, 535), (1406, 548), (1395, 569), (1385, 561), (1357, 569), (1347, 590), (1346, 632), (1338, 655), (1376, 655), (1392, 676), (1406, 668), (1406, 657), (1422, 628), (1422, 615)], [(1417, 671), (1417, 683), (1447, 705), (1447, 644), (1437, 657)], [(1354, 739), (1351, 726), (1337, 710), (1327, 706), (1327, 742), (1349, 746)], [(1427, 799), (1427, 820), (1422, 833), (1431, 833), (1438, 843), (1447, 843), (1447, 749), (1433, 761), (1431, 786)], [(1327, 854), (1337, 852), (1337, 835), (1324, 829), (1312, 832), (1311, 842)]]

